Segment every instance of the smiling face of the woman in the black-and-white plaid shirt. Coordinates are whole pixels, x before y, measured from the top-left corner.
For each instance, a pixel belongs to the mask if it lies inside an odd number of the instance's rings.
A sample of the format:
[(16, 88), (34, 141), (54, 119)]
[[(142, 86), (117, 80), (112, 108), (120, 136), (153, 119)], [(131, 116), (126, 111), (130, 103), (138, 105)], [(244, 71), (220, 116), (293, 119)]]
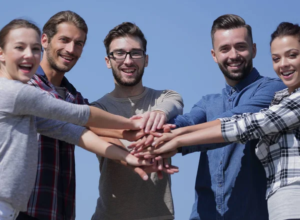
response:
[(300, 42), (294, 36), (275, 38), (271, 43), (273, 68), (288, 92), (300, 87)]

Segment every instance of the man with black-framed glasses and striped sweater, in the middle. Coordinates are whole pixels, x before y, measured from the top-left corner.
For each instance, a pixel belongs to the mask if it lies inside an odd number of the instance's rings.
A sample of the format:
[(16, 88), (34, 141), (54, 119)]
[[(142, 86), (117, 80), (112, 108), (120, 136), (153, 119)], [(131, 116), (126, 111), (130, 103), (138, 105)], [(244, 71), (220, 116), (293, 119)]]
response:
[[(91, 105), (110, 113), (144, 119), (145, 132), (182, 114), (183, 102), (172, 90), (154, 90), (142, 85), (144, 67), (148, 65), (146, 39), (133, 23), (123, 22), (109, 31), (104, 39), (105, 62), (112, 70), (115, 87)], [(106, 139), (107, 140), (107, 139)], [(125, 140), (109, 140), (124, 150)], [(99, 198), (92, 220), (172, 220), (173, 202), (170, 177), (151, 170), (149, 180), (143, 181), (126, 166), (97, 156), (100, 168)], [(136, 168), (132, 168), (136, 172)], [(149, 169), (146, 171), (149, 172)], [(159, 176), (158, 176), (159, 175)], [(163, 177), (162, 180), (159, 178)], [(148, 178), (147, 176), (145, 179)]]

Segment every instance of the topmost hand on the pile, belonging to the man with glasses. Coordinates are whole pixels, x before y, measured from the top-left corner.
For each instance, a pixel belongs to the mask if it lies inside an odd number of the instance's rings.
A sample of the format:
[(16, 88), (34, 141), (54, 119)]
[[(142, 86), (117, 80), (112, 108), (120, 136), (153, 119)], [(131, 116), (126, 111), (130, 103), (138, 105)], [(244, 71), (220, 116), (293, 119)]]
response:
[(164, 112), (162, 111), (149, 111), (143, 114), (138, 114), (132, 116), (130, 119), (139, 119), (141, 118), (140, 129), (145, 128), (145, 133), (156, 131), (156, 129), (161, 129), (162, 125), (166, 121)]

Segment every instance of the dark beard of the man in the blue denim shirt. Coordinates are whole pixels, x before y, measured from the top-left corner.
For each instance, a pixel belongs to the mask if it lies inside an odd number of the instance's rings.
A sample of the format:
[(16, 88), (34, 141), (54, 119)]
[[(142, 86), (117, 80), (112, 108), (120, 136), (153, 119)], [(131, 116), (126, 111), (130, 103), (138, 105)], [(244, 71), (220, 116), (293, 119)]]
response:
[(246, 63), (241, 70), (237, 70), (236, 72), (228, 71), (226, 67), (220, 63), (218, 63), (218, 66), (225, 77), (234, 81), (239, 81), (247, 77), (253, 68), (252, 59)]

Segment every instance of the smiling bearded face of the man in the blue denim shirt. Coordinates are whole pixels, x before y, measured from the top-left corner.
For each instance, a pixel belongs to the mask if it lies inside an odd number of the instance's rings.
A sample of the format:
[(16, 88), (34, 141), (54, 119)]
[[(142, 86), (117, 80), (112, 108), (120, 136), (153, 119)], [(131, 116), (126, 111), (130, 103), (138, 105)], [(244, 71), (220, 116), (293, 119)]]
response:
[(221, 29), (214, 33), (211, 55), (227, 83), (234, 86), (251, 72), (256, 44), (251, 42), (245, 27)]

